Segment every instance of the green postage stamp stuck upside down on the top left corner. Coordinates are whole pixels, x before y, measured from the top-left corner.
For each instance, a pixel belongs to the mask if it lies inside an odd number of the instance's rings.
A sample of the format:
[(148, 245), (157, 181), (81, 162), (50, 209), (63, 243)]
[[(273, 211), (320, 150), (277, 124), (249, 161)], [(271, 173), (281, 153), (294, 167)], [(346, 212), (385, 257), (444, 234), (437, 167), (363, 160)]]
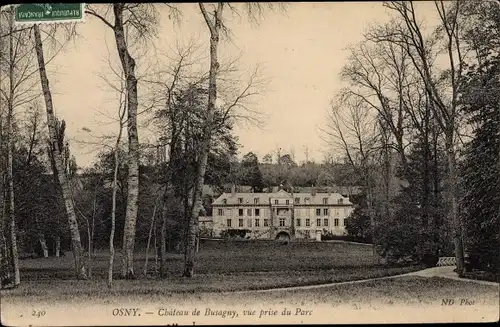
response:
[(26, 3), (15, 7), (16, 23), (71, 23), (83, 21), (83, 3)]

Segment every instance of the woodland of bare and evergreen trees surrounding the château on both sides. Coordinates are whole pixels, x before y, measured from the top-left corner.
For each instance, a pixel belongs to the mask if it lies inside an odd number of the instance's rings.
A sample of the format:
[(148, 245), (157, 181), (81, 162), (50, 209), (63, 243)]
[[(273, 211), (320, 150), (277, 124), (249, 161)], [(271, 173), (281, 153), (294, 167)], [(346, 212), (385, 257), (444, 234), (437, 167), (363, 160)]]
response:
[[(259, 21), (288, 4), (192, 5), (208, 32), (208, 66), (199, 65), (191, 44), (146, 73), (141, 51), (151, 47), (159, 21), (182, 24), (182, 6), (87, 5), (87, 20), (112, 31), (110, 52), (119, 63), (113, 76), (102, 76), (117, 96), (116, 133), (97, 137), (87, 129), (95, 136), (87, 143), (100, 148), (89, 167), (75, 159), (46, 69), (76, 40), (78, 23), (16, 25), (14, 10), (2, 10), (2, 278), (19, 285), (19, 260), (71, 252), (75, 278), (90, 279), (95, 250), (107, 249), (111, 287), (114, 278), (138, 277), (134, 255), (143, 247), (158, 252), (160, 278), (167, 253), (182, 251), (190, 278), (199, 216), (233, 184), (253, 192), (280, 184), (358, 187), (347, 230), (370, 240), (381, 260), (432, 264), (453, 256), (459, 276), (472, 269), (498, 274), (498, 1), (435, 1), (429, 26), (419, 4), (384, 3), (390, 21), (371, 25), (346, 50), (343, 87), (332, 94), (320, 131), (330, 149), (322, 162), (307, 148), (301, 162), (281, 148), (238, 159), (234, 126), (258, 125), (255, 99), (266, 85), (258, 67), (242, 77), (235, 61), (223, 59), (226, 16)], [(146, 129), (157, 141), (139, 142)], [(119, 277), (112, 269), (117, 252)]]

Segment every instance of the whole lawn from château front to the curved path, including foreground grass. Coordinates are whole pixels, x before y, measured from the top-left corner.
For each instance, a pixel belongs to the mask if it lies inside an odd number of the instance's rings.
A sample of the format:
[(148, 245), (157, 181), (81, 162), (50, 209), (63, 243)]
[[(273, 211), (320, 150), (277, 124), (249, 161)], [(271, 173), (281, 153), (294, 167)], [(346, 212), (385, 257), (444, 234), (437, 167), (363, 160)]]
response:
[[(144, 267), (144, 251), (137, 251), (135, 269)], [(66, 300), (83, 297), (127, 296), (129, 294), (224, 292), (256, 290), (294, 285), (315, 285), (383, 277), (421, 269), (419, 266), (385, 267), (376, 263), (372, 248), (366, 245), (310, 242), (207, 242), (200, 246), (195, 276), (182, 278), (183, 256), (169, 254), (167, 279), (155, 278), (154, 257), (150, 257), (147, 278), (116, 280), (113, 290), (106, 288), (108, 255), (100, 251), (94, 262), (93, 279), (77, 281), (70, 253), (61, 258), (21, 261), (21, 286), (3, 291), (8, 297)], [(118, 274), (120, 257), (115, 261)]]

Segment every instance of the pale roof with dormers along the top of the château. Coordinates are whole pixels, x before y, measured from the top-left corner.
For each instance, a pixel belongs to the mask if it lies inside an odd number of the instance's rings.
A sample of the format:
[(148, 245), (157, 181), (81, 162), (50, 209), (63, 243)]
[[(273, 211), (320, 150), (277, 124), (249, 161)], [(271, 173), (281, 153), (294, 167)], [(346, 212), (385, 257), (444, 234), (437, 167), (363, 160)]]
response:
[[(309, 198), (308, 204), (323, 205), (323, 199), (328, 198), (328, 204), (338, 204), (338, 199), (342, 199), (342, 204), (352, 204), (349, 198), (342, 196), (340, 193), (288, 193), (284, 190), (279, 190), (273, 193), (223, 193), (214, 202), (213, 205), (223, 204), (240, 204), (238, 198), (243, 198), (243, 204), (254, 204), (254, 199), (259, 199), (259, 204), (267, 204), (271, 199), (290, 198), (295, 202), (299, 198), (299, 204), (304, 204), (305, 199)], [(224, 200), (227, 202), (224, 203)]]

